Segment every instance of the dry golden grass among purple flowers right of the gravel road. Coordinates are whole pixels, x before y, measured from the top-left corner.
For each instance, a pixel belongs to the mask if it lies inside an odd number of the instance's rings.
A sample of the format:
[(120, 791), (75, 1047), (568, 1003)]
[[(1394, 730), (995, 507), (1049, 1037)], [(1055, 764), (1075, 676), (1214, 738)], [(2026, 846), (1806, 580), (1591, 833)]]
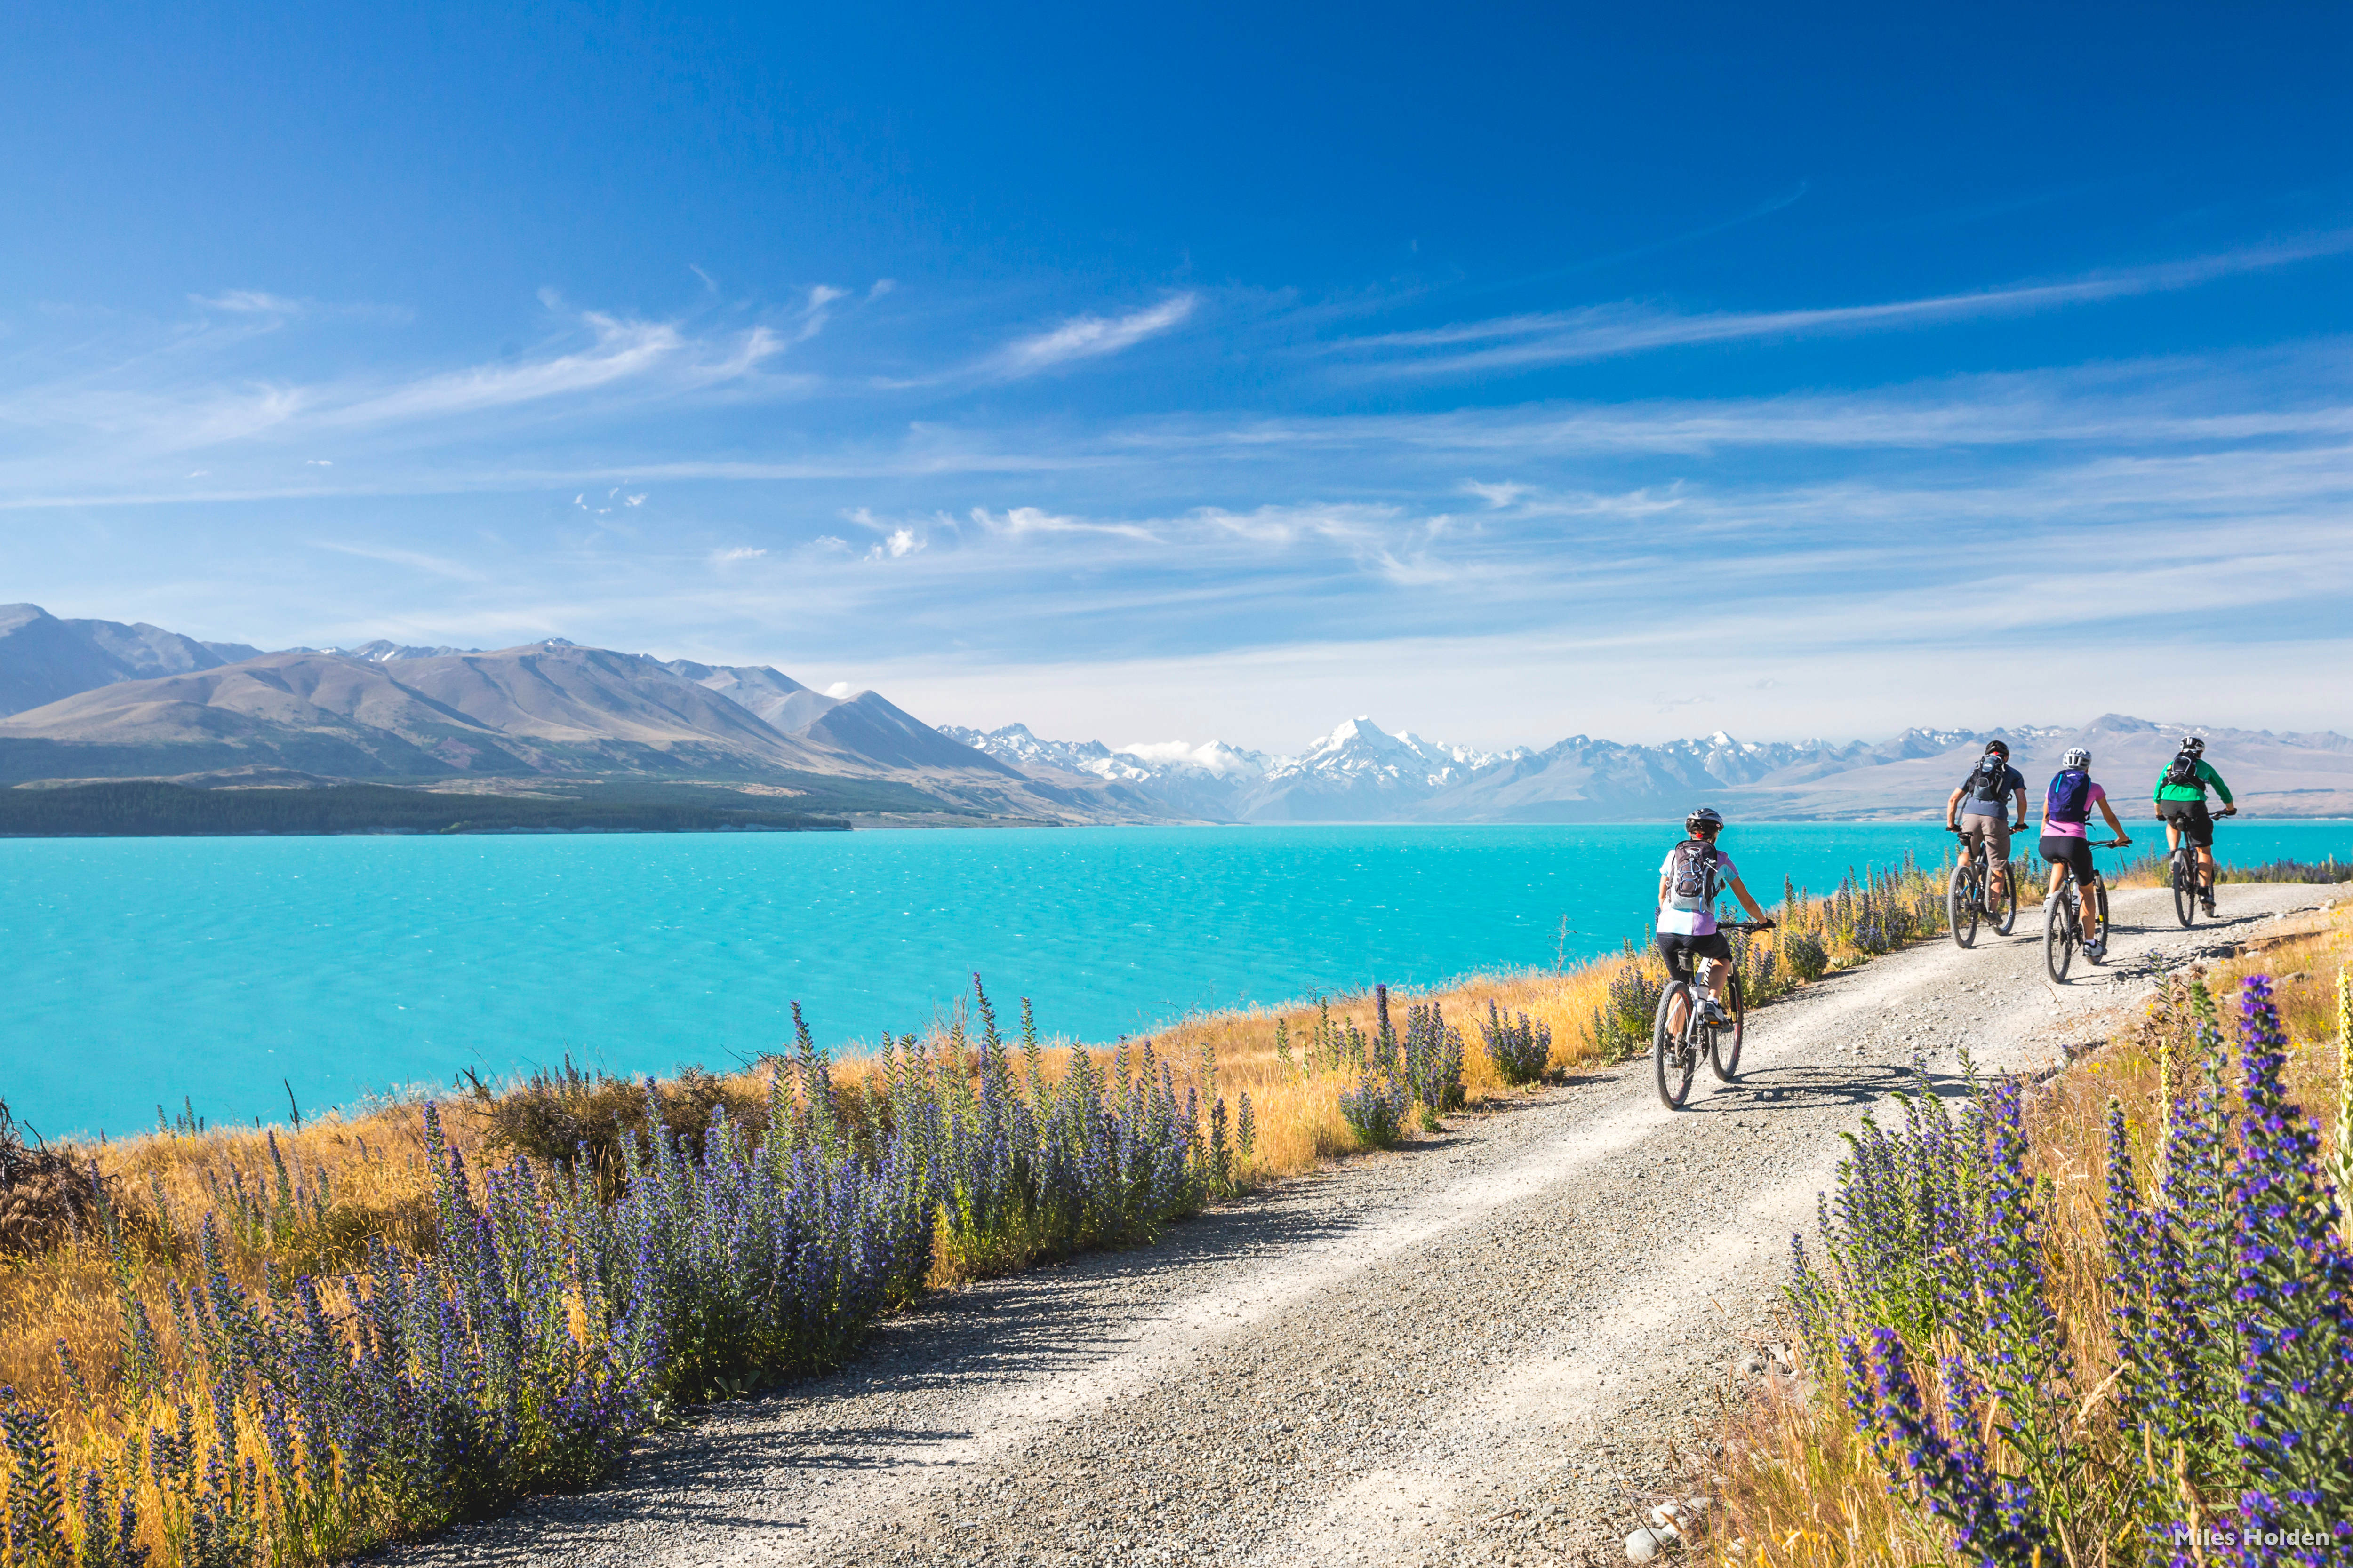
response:
[[(2238, 957), (2205, 969), (2224, 1006), (2252, 973), (2273, 978), (2280, 1020), (2294, 1041), (2289, 1091), (2334, 1147), (2339, 1095), (2337, 973), (2353, 969), (2353, 905), (2318, 910), (2268, 933)], [(2155, 1133), (2158, 1046), (2153, 1027), (2120, 1032), (2075, 1070), (2026, 1103), (2031, 1168), (2049, 1178), (2059, 1222), (2045, 1255), (2052, 1300), (2080, 1347), (2085, 1385), (2115, 1366), (2108, 1338), (2101, 1211), (2108, 1173), (2108, 1098), (2118, 1098), (2134, 1150)], [(1802, 1354), (1802, 1352), (1800, 1352)], [(1760, 1392), (1722, 1434), (1725, 1509), (1708, 1533), (1708, 1554), (1725, 1568), (1847, 1568), (1960, 1563), (1944, 1535), (1925, 1526), (1887, 1486), (1887, 1472), (1857, 1436), (1838, 1387), (1838, 1368), (1809, 1368), (1812, 1399)], [(1734, 1552), (1741, 1542), (1741, 1552)]]

